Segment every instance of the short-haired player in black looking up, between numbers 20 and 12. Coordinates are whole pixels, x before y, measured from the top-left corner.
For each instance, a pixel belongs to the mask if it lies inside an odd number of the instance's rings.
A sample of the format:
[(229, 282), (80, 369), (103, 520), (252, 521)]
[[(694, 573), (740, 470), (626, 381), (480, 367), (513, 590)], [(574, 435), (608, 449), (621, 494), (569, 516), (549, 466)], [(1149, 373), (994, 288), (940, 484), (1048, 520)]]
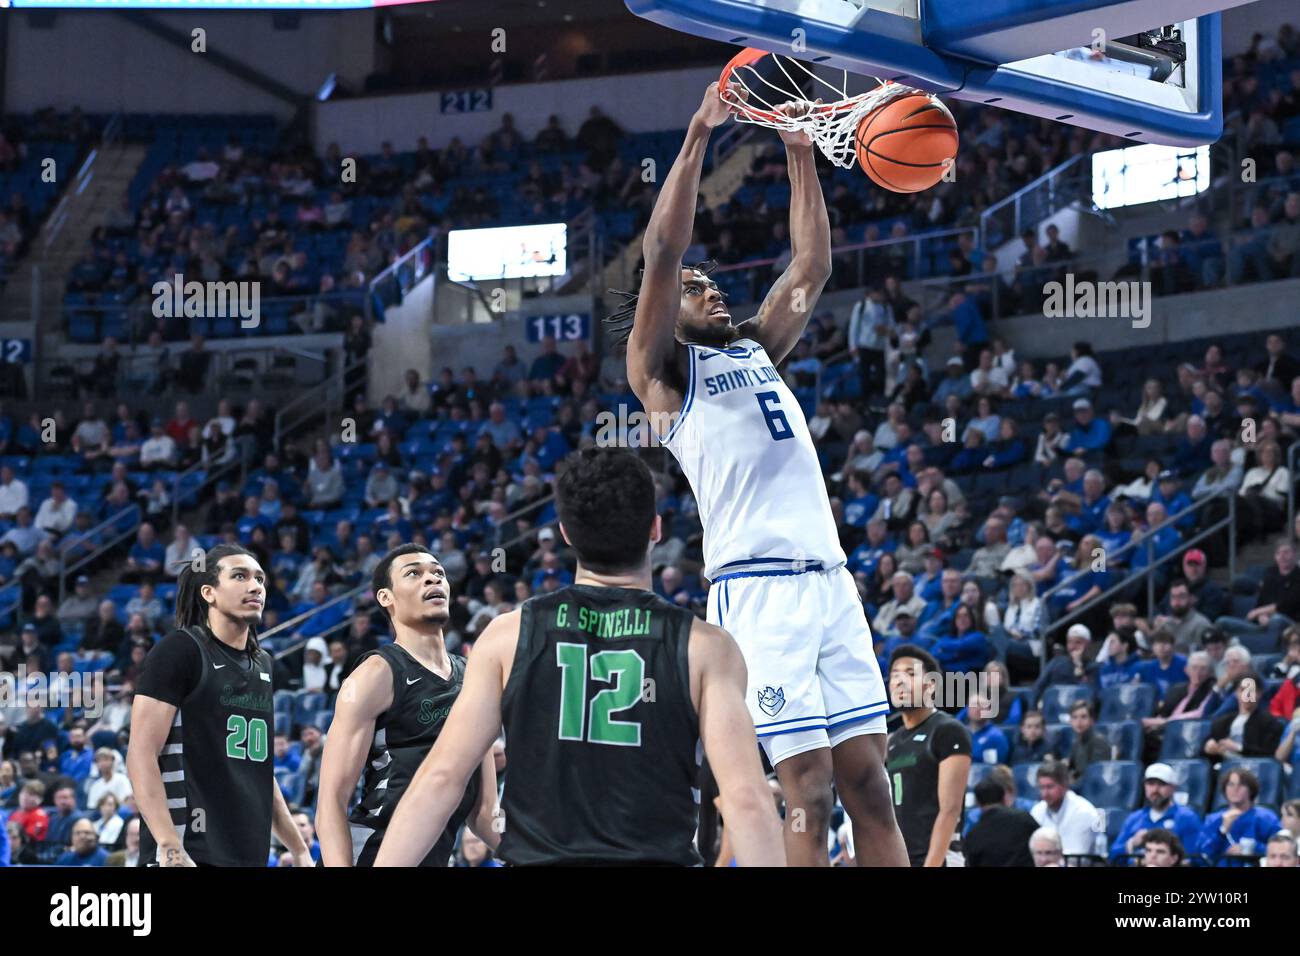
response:
[[(321, 762), (316, 830), (326, 866), (370, 866), (407, 784), (429, 753), (460, 693), (465, 658), (447, 653), (443, 628), (451, 583), (421, 545), (394, 548), (374, 566), (374, 600), (393, 622), (394, 643), (364, 654), (339, 688)], [(364, 792), (347, 813), (365, 769)], [(421, 866), (446, 866), (456, 832), (468, 821), (493, 849), (497, 770), (489, 754)]]

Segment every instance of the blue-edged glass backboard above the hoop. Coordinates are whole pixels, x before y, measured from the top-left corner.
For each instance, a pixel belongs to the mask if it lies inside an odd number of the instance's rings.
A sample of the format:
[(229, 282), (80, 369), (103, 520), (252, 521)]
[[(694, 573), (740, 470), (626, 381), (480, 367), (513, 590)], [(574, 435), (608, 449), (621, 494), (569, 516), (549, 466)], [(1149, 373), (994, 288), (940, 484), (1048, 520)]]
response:
[(625, 0), (697, 36), (1169, 146), (1222, 133), (1218, 10), (1247, 1)]

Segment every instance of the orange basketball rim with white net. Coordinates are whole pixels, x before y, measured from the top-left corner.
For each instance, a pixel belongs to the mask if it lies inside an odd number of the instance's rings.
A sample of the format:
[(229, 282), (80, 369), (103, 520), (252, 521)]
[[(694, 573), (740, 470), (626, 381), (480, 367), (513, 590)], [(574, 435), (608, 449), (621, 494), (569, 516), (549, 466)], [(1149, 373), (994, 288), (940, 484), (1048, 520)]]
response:
[[(784, 81), (781, 77), (768, 78), (759, 73), (757, 64), (764, 60), (767, 64), (775, 64)], [(796, 79), (801, 73), (805, 77), (802, 82)], [(718, 95), (733, 108), (737, 122), (751, 122), (786, 133), (807, 133), (831, 163), (842, 169), (853, 169), (858, 161), (854, 139), (862, 117), (898, 96), (928, 94), (887, 81), (874, 90), (850, 96), (849, 72), (841, 70), (841, 73), (844, 82), (837, 87), (794, 57), (746, 47), (723, 69), (718, 81)], [(833, 94), (835, 100), (831, 103), (809, 100), (803, 90), (807, 78)], [(775, 99), (775, 104), (768, 96)], [(779, 109), (781, 104), (792, 101), (802, 104), (805, 112), (800, 116), (786, 116)]]

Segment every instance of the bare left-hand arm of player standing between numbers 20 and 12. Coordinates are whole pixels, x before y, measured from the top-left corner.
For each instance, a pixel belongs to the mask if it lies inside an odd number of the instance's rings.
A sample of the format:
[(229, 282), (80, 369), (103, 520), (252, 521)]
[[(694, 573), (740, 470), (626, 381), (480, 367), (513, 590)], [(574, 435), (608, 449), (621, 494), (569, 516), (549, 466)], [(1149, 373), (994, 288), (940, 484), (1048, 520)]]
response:
[(347, 803), (365, 769), (365, 754), (374, 739), (374, 722), (393, 705), (393, 670), (376, 656), (361, 662), (339, 688), (334, 721), (321, 757), (320, 801), (316, 806), (316, 836), (321, 862), (352, 865), (352, 832)]

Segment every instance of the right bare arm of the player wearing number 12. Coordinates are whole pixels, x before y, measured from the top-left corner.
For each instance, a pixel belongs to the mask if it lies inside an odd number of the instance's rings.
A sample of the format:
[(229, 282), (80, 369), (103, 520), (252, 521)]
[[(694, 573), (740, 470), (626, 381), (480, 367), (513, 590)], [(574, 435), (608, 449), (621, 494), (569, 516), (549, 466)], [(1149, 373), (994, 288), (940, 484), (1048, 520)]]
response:
[(736, 641), (720, 627), (690, 628), (692, 696), (699, 739), (718, 780), (725, 832), (740, 866), (785, 866), (781, 821), (758, 760), (754, 718), (745, 706), (748, 671)]

